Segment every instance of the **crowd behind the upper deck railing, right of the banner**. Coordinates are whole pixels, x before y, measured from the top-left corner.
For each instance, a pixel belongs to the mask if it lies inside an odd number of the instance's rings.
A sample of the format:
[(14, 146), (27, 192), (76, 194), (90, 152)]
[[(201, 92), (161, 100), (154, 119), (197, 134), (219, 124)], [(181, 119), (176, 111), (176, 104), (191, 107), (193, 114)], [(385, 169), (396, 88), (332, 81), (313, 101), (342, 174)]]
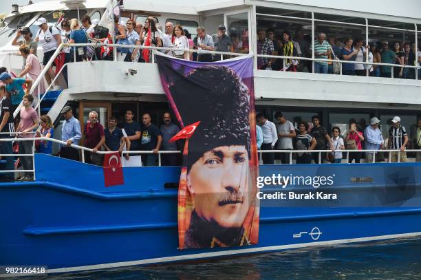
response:
[[(264, 70), (288, 72), (312, 72), (312, 61), (299, 58), (312, 57), (312, 42), (306, 39), (302, 30), (298, 30), (294, 37), (285, 30), (281, 38), (275, 37), (273, 29), (259, 30), (257, 32), (257, 53), (274, 56), (294, 56), (296, 59), (259, 57), (257, 67)], [(390, 49), (389, 49), (390, 47)], [(334, 61), (315, 61), (314, 73), (343, 75), (388, 77), (392, 76), (392, 67), (387, 65), (365, 65), (368, 63), (396, 64), (393, 67), (393, 78), (415, 78), (415, 69), (399, 67), (398, 65), (421, 65), (421, 52), (415, 50), (415, 43), (398, 41), (390, 44), (388, 41), (367, 43), (360, 38), (346, 38), (344, 41), (334, 36), (327, 37), (325, 33), (318, 34), (314, 41), (314, 57)], [(298, 58), (297, 58), (298, 57)], [(360, 63), (339, 63), (335, 60), (352, 61)], [(418, 69), (418, 78), (421, 71)]]

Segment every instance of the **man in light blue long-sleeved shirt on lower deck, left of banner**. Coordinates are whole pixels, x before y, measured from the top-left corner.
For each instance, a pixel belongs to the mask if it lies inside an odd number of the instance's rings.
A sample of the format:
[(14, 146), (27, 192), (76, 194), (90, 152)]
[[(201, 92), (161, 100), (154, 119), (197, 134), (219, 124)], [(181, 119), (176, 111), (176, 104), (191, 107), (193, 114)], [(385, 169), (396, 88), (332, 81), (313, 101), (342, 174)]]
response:
[(79, 160), (79, 152), (77, 149), (70, 147), (71, 144), (77, 145), (82, 133), (80, 132), (80, 122), (73, 116), (72, 107), (65, 106), (61, 110), (65, 121), (61, 128), (61, 140), (66, 144), (61, 144), (60, 157), (68, 158), (69, 160)]

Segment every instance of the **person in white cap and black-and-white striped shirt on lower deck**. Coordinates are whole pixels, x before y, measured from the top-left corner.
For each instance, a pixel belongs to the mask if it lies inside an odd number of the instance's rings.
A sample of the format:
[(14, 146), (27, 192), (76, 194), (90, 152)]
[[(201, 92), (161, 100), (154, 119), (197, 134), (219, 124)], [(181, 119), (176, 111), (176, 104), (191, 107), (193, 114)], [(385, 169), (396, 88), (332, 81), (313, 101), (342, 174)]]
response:
[(399, 162), (408, 162), (407, 152), (405, 151), (405, 147), (407, 147), (408, 143), (407, 129), (400, 125), (400, 118), (398, 116), (393, 117), (391, 122), (388, 149), (400, 150), (400, 153), (392, 151), (390, 162), (398, 162), (398, 154), (400, 154)]

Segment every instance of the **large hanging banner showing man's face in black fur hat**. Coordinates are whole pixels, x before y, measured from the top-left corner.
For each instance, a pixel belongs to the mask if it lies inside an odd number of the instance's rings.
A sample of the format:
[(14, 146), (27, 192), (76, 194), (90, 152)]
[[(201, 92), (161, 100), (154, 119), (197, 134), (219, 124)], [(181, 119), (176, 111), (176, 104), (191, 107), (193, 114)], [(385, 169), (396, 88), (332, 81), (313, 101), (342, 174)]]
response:
[(196, 63), (158, 55), (156, 61), (186, 139), (178, 191), (179, 248), (257, 244), (252, 58)]

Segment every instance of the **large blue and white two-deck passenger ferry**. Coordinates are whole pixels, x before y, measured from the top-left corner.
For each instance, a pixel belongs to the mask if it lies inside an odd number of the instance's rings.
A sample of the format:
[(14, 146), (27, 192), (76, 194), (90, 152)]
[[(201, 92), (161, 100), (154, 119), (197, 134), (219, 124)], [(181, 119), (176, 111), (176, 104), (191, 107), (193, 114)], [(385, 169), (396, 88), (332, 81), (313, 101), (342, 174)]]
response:
[[(123, 21), (131, 18), (144, 22), (154, 17), (161, 25), (167, 21), (180, 23), (193, 36), (199, 25), (213, 34), (220, 24), (228, 33), (248, 34), (250, 55), (255, 61), (257, 113), (274, 119), (275, 112), (282, 111), (295, 125), (319, 115), (326, 127), (339, 126), (343, 133), (349, 119), (365, 127), (367, 120), (376, 116), (382, 120), (382, 133), (387, 138), (387, 120), (393, 116), (400, 116), (411, 133), (416, 129), (421, 108), (418, 65), (405, 67), (415, 69), (415, 79), (316, 74), (311, 66), (318, 58), (310, 51), (307, 57), (296, 57), (308, 66), (308, 72), (258, 69), (257, 61), (263, 56), (257, 54), (256, 34), (268, 28), (273, 28), (276, 36), (283, 30), (299, 30), (312, 42), (324, 32), (341, 40), (359, 36), (366, 42), (409, 41), (417, 49), (421, 41), (417, 11), (421, 6), (415, 0), (407, 4), (402, 14), (400, 3), (353, 3), (350, 7), (337, 1), (316, 6), (301, 0), (209, 0), (200, 4), (125, 0), (120, 15)], [(69, 18), (88, 14), (91, 19), (101, 19), (109, 5), (106, 0), (87, 0), (43, 1), (19, 7), (4, 19), (0, 29), (0, 66), (14, 73), (21, 71), (22, 59), (11, 44), (17, 29), (26, 26), (36, 34), (34, 22), (44, 17), (54, 24), (54, 12), (63, 12)], [(111, 1), (111, 6), (116, 3)], [(127, 74), (129, 69), (136, 74)], [(58, 140), (63, 122), (60, 112), (65, 105), (76, 112), (82, 128), (92, 110), (98, 111), (104, 127), (109, 116), (122, 115), (127, 108), (133, 109), (138, 120), (143, 112), (149, 112), (157, 125), (169, 110), (155, 63), (83, 61), (69, 63), (67, 72), (67, 88), (47, 92), (39, 107), (41, 114), (54, 121), (54, 137)], [(101, 166), (37, 153), (34, 182), (0, 184), (0, 266), (47, 266), (48, 273), (72, 272), (418, 236), (421, 164), (413, 158), (409, 161), (262, 164), (259, 175), (263, 177), (280, 173), (334, 176), (343, 200), (302, 206), (262, 202), (257, 244), (179, 250), (180, 166), (123, 167), (125, 183), (105, 188)], [(305, 193), (312, 187), (291, 190)], [(262, 191), (281, 190), (264, 187)]]

